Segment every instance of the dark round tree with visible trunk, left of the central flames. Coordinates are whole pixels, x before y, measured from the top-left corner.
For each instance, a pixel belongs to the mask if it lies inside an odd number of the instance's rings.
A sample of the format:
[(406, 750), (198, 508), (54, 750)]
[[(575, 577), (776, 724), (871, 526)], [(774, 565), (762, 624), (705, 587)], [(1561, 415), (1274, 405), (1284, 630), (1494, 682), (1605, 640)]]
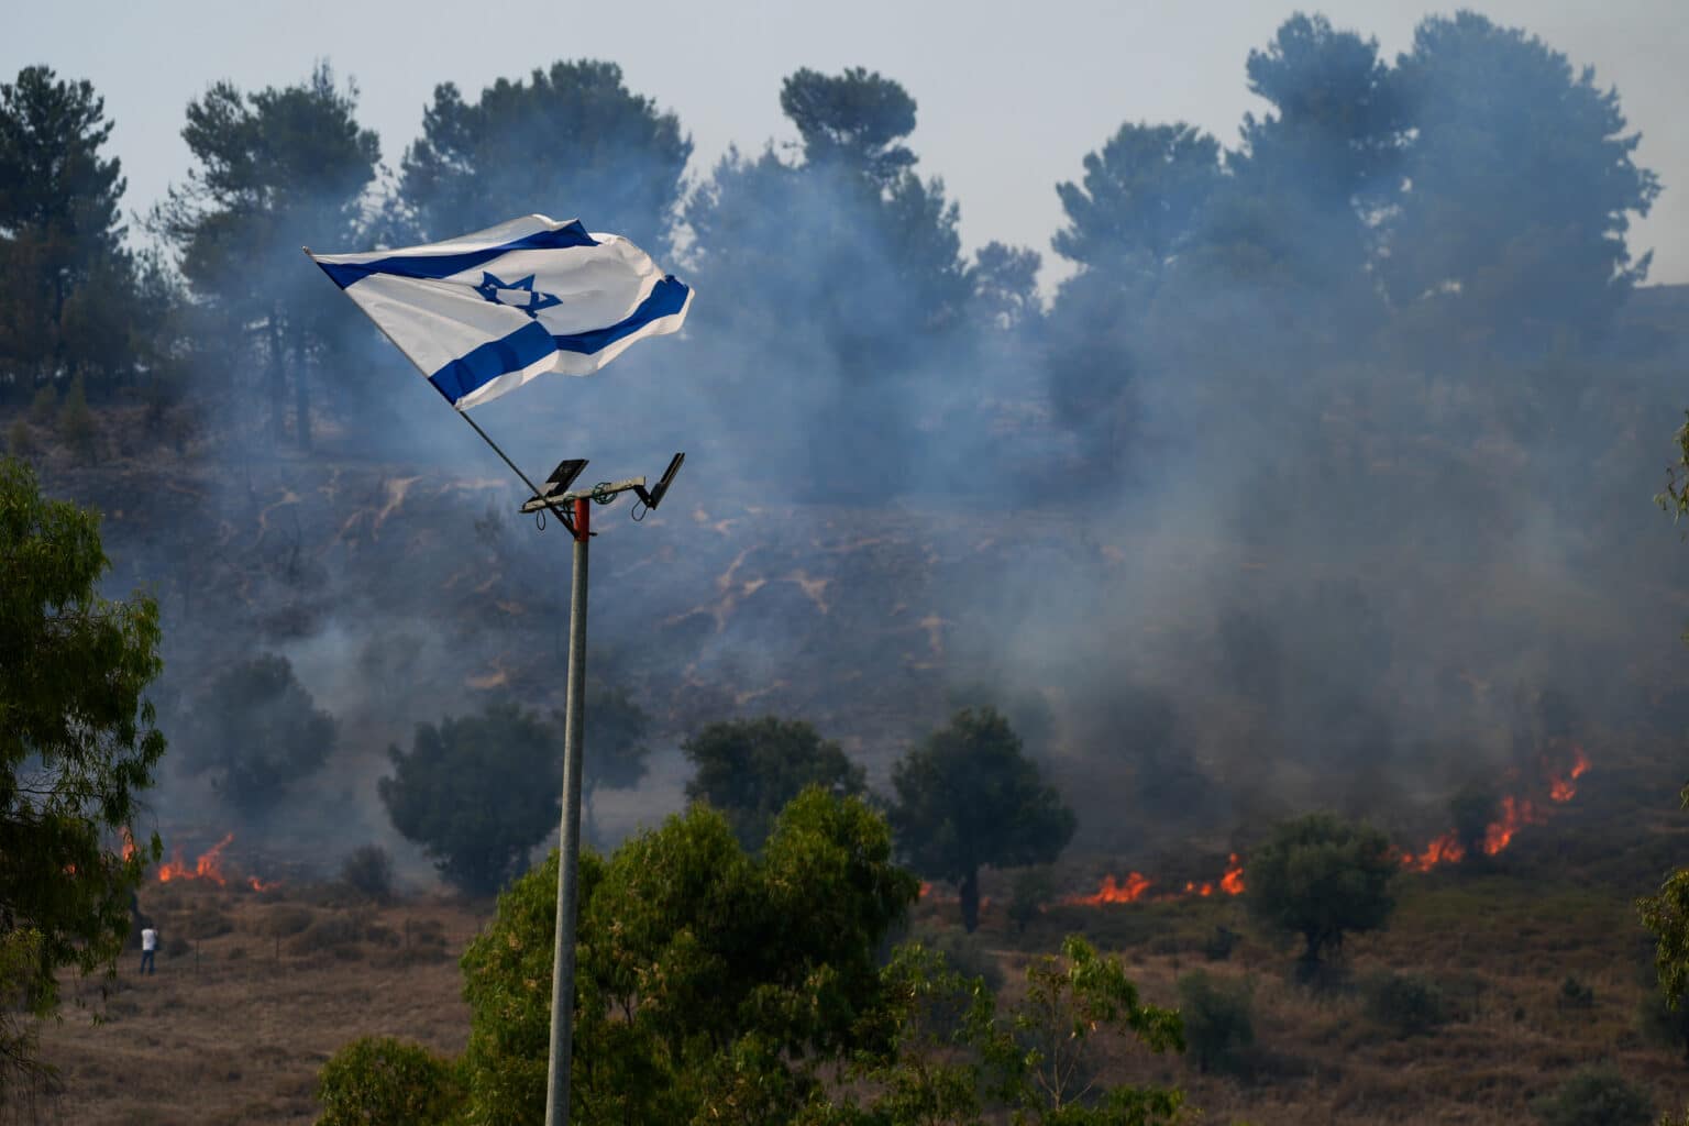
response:
[(1047, 864), (1078, 820), (995, 709), (963, 709), (892, 768), (892, 827), (915, 871), (961, 891), (980, 925), (980, 868)]

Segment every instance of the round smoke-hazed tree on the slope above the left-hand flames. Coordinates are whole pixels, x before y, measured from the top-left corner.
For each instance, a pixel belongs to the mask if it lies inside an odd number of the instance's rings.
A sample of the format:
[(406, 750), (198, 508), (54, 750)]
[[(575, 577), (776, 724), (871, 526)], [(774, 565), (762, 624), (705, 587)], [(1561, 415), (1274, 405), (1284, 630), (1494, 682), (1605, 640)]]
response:
[(230, 665), (199, 697), (182, 765), (209, 773), (235, 809), (265, 814), (334, 753), (338, 724), (275, 653)]

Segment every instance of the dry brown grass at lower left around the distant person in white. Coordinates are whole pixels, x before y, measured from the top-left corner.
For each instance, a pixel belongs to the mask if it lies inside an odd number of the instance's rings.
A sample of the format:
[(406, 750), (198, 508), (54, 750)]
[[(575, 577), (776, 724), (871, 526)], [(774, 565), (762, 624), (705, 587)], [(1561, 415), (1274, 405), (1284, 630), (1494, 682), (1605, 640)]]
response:
[[(483, 922), (464, 907), (318, 907), (189, 885), (145, 891), (142, 910), (189, 949), (160, 955), (150, 977), (125, 954), (103, 1008), (91, 983), (69, 986), (88, 1008), (66, 1006), (42, 1035), (66, 1123), (309, 1123), (318, 1069), (348, 1040), (463, 1050), (456, 955)], [(216, 934), (196, 950), (201, 928)]]

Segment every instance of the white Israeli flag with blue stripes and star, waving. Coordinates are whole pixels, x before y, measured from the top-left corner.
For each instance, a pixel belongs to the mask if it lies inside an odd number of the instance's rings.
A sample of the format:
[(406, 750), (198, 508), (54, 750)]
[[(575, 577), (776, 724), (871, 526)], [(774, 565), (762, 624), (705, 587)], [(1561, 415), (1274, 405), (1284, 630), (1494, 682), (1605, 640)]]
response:
[(628, 240), (544, 214), (427, 246), (311, 258), (458, 410), (546, 371), (591, 375), (633, 341), (677, 331), (692, 304)]

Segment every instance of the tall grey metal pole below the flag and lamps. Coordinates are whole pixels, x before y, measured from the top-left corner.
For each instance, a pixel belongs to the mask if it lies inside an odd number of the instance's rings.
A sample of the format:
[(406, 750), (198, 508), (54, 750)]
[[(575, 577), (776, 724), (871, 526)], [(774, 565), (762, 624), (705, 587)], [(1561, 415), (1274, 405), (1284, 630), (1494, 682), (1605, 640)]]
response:
[[(539, 490), (535, 490), (539, 495)], [(569, 1123), (569, 1060), (574, 1048), (574, 917), (579, 907), (581, 726), (586, 712), (586, 549), (589, 500), (574, 501), (574, 579), (569, 591), (569, 687), (562, 704), (562, 827), (557, 834), (557, 944), (551, 959), (551, 1058), (546, 1126)]]

